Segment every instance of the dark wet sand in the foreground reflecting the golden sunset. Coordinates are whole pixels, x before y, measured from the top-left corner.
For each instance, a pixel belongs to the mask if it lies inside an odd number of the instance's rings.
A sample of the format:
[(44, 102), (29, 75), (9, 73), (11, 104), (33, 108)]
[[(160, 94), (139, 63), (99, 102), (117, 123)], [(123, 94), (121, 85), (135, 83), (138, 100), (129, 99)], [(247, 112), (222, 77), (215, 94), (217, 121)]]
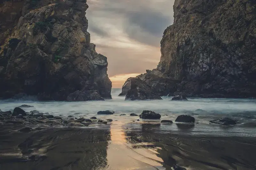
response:
[[(255, 137), (190, 135), (160, 124), (113, 121), (101, 127), (0, 129), (1, 170), (255, 170)], [(195, 125), (196, 126), (196, 125)], [(34, 152), (32, 152), (32, 150)]]

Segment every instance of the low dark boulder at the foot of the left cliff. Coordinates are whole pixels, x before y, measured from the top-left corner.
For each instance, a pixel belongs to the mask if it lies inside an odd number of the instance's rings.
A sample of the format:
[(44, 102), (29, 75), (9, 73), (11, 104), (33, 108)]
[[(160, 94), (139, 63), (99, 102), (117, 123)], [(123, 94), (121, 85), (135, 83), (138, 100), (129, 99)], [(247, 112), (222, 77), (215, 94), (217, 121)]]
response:
[(79, 91), (70, 93), (68, 101), (88, 101), (88, 100), (104, 100), (96, 90)]

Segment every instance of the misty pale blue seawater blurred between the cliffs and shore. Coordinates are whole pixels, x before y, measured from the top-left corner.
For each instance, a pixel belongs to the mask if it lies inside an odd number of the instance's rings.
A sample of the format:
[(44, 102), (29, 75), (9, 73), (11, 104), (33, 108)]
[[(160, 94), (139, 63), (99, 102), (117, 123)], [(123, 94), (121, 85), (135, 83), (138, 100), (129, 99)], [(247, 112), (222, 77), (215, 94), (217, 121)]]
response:
[[(22, 104), (32, 105), (32, 108), (23, 108), (25, 111), (38, 110), (51, 115), (72, 115), (90, 118), (96, 116), (101, 119), (113, 119), (124, 122), (124, 127), (140, 129), (141, 123), (150, 121), (159, 124), (161, 120), (175, 121), (181, 114), (195, 117), (196, 124), (192, 127), (181, 127), (173, 123), (156, 125), (156, 130), (172, 130), (173, 133), (187, 133), (191, 135), (215, 134), (218, 136), (255, 136), (256, 135), (256, 99), (203, 99), (188, 98), (188, 101), (171, 101), (171, 97), (163, 96), (163, 100), (125, 101), (124, 96), (118, 96), (121, 89), (112, 89), (111, 100), (105, 101), (36, 101), (28, 100), (0, 100), (0, 109), (7, 111)], [(97, 115), (98, 111), (113, 110), (114, 115)], [(152, 110), (161, 114), (160, 120), (141, 120), (138, 116), (129, 116), (131, 113), (140, 115), (143, 110)], [(126, 114), (122, 115), (121, 114)], [(232, 118), (241, 124), (236, 126), (220, 126), (209, 124), (217, 118)], [(140, 119), (140, 122), (137, 121)], [(135, 121), (135, 122), (133, 122)], [(113, 124), (115, 126), (115, 124)]]

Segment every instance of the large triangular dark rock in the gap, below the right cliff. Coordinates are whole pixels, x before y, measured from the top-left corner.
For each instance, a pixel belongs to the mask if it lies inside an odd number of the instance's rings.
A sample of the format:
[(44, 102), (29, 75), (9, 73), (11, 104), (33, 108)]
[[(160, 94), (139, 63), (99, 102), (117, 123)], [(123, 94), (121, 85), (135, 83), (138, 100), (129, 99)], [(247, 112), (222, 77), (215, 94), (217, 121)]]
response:
[(132, 78), (130, 89), (125, 95), (125, 100), (162, 99), (154, 90), (140, 78)]

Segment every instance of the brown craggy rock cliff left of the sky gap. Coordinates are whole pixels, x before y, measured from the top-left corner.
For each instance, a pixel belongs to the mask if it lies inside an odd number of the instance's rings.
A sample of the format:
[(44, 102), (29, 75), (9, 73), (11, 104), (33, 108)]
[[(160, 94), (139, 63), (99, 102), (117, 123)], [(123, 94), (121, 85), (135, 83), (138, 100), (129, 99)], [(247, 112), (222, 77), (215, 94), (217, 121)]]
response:
[(90, 43), (87, 8), (86, 0), (1, 1), (0, 97), (67, 100), (96, 90), (111, 98), (107, 58)]

